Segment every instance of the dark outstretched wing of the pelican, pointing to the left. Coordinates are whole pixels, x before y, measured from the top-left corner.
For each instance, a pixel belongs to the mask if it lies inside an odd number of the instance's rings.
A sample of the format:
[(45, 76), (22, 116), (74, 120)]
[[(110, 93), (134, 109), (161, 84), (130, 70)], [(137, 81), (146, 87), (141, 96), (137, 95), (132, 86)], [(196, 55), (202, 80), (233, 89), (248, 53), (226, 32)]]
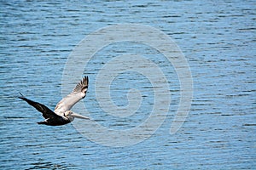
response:
[(29, 105), (32, 105), (34, 108), (36, 108), (38, 111), (40, 111), (41, 113), (43, 113), (43, 116), (45, 119), (48, 119), (50, 117), (52, 118), (57, 118), (60, 117), (57, 114), (55, 114), (54, 111), (51, 111), (48, 107), (46, 107), (45, 105), (39, 104), (38, 102), (32, 101), (30, 99), (26, 99), (24, 96), (20, 96), (20, 99), (25, 100)]

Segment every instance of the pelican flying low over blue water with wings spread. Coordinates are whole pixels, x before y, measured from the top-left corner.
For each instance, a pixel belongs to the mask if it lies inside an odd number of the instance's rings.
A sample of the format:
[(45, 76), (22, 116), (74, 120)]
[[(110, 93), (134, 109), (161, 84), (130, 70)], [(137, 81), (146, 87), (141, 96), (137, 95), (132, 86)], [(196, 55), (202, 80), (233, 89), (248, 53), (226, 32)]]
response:
[(84, 77), (81, 82), (73, 89), (71, 94), (68, 94), (65, 98), (55, 106), (55, 111), (51, 111), (47, 106), (39, 104), (38, 102), (26, 99), (22, 94), (20, 99), (25, 100), (29, 105), (32, 105), (38, 111), (43, 113), (45, 120), (43, 122), (38, 122), (38, 124), (44, 124), (49, 126), (60, 126), (73, 122), (75, 117), (80, 119), (89, 119), (89, 117), (79, 115), (70, 111), (73, 105), (79, 102), (79, 100), (84, 99), (88, 89), (89, 78)]

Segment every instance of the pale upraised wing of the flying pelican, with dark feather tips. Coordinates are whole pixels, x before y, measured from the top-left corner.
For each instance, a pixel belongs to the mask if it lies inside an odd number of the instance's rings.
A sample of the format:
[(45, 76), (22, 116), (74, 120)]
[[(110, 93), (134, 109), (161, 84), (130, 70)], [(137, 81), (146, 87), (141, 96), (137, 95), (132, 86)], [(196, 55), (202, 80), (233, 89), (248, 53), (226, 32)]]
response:
[(71, 94), (68, 94), (65, 98), (55, 107), (55, 113), (61, 115), (65, 111), (70, 111), (70, 109), (79, 102), (80, 99), (84, 99), (87, 89), (88, 89), (89, 78), (84, 77), (81, 82), (73, 89)]

